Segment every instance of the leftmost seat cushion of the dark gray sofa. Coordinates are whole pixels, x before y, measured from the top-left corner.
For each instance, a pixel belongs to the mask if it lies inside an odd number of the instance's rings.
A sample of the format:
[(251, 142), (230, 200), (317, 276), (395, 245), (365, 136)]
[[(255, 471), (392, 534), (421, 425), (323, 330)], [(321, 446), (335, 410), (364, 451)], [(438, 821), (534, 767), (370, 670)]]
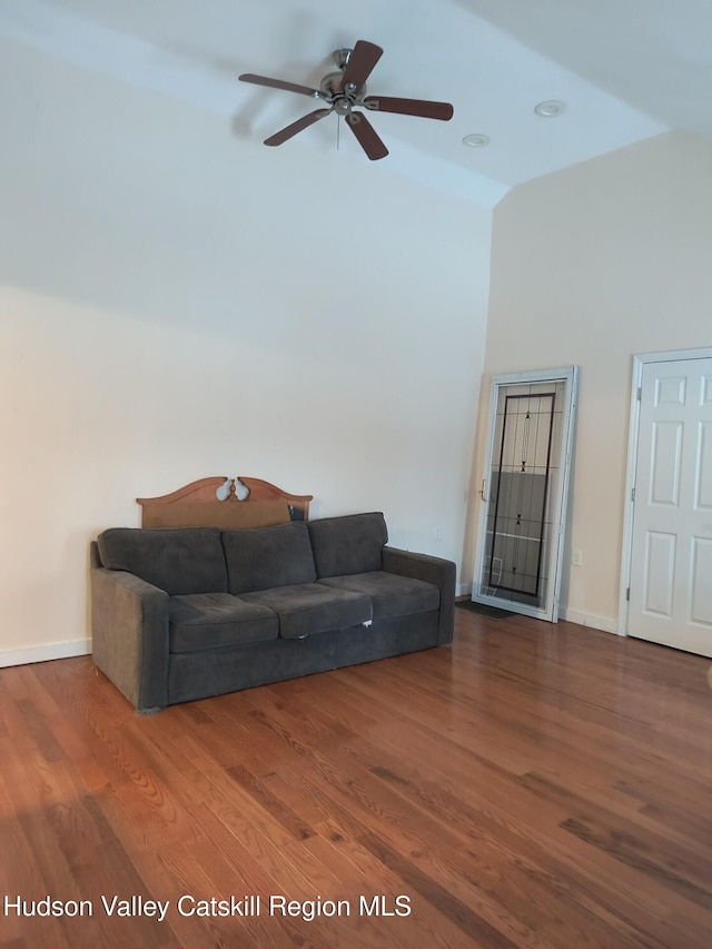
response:
[(276, 640), (279, 621), (271, 610), (229, 593), (195, 593), (168, 601), (170, 652)]

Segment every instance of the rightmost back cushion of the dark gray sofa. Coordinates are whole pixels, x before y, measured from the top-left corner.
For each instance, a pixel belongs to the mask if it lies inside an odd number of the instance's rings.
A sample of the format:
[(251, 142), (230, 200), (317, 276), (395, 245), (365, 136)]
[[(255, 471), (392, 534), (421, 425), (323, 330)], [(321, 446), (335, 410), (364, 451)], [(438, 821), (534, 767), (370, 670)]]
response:
[(380, 512), (310, 521), (309, 534), (319, 577), (382, 570), (388, 531)]

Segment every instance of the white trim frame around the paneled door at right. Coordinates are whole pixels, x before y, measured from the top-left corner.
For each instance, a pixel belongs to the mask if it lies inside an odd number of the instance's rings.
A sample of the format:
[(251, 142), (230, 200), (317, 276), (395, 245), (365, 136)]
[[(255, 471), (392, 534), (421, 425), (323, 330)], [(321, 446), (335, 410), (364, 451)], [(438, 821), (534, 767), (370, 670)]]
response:
[(621, 548), (621, 586), (619, 591), (619, 635), (627, 636), (629, 591), (633, 569), (633, 522), (635, 502), (633, 488), (637, 473), (637, 449), (641, 421), (641, 388), (643, 369), (651, 363), (679, 363), (693, 359), (712, 359), (712, 347), (700, 349), (669, 349), (661, 353), (641, 353), (633, 356), (633, 374), (631, 384), (631, 411), (627, 436), (627, 463), (625, 466), (625, 507), (623, 512), (623, 543)]

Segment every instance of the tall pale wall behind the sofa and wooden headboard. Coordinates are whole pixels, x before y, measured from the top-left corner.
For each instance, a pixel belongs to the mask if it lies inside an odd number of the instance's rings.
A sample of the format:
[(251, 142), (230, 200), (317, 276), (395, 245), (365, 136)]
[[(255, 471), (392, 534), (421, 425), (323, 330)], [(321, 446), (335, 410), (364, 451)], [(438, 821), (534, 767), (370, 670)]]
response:
[(490, 210), (11, 43), (0, 113), (0, 663), (85, 650), (89, 540), (208, 475), (459, 563)]

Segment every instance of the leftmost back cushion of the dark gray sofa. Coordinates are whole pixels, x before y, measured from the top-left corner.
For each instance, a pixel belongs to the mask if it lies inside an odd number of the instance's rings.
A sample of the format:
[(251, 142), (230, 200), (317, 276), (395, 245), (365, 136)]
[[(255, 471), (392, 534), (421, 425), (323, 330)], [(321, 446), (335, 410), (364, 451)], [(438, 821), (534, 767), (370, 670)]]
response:
[(227, 593), (217, 527), (110, 527), (98, 545), (103, 566), (134, 573), (171, 596)]

